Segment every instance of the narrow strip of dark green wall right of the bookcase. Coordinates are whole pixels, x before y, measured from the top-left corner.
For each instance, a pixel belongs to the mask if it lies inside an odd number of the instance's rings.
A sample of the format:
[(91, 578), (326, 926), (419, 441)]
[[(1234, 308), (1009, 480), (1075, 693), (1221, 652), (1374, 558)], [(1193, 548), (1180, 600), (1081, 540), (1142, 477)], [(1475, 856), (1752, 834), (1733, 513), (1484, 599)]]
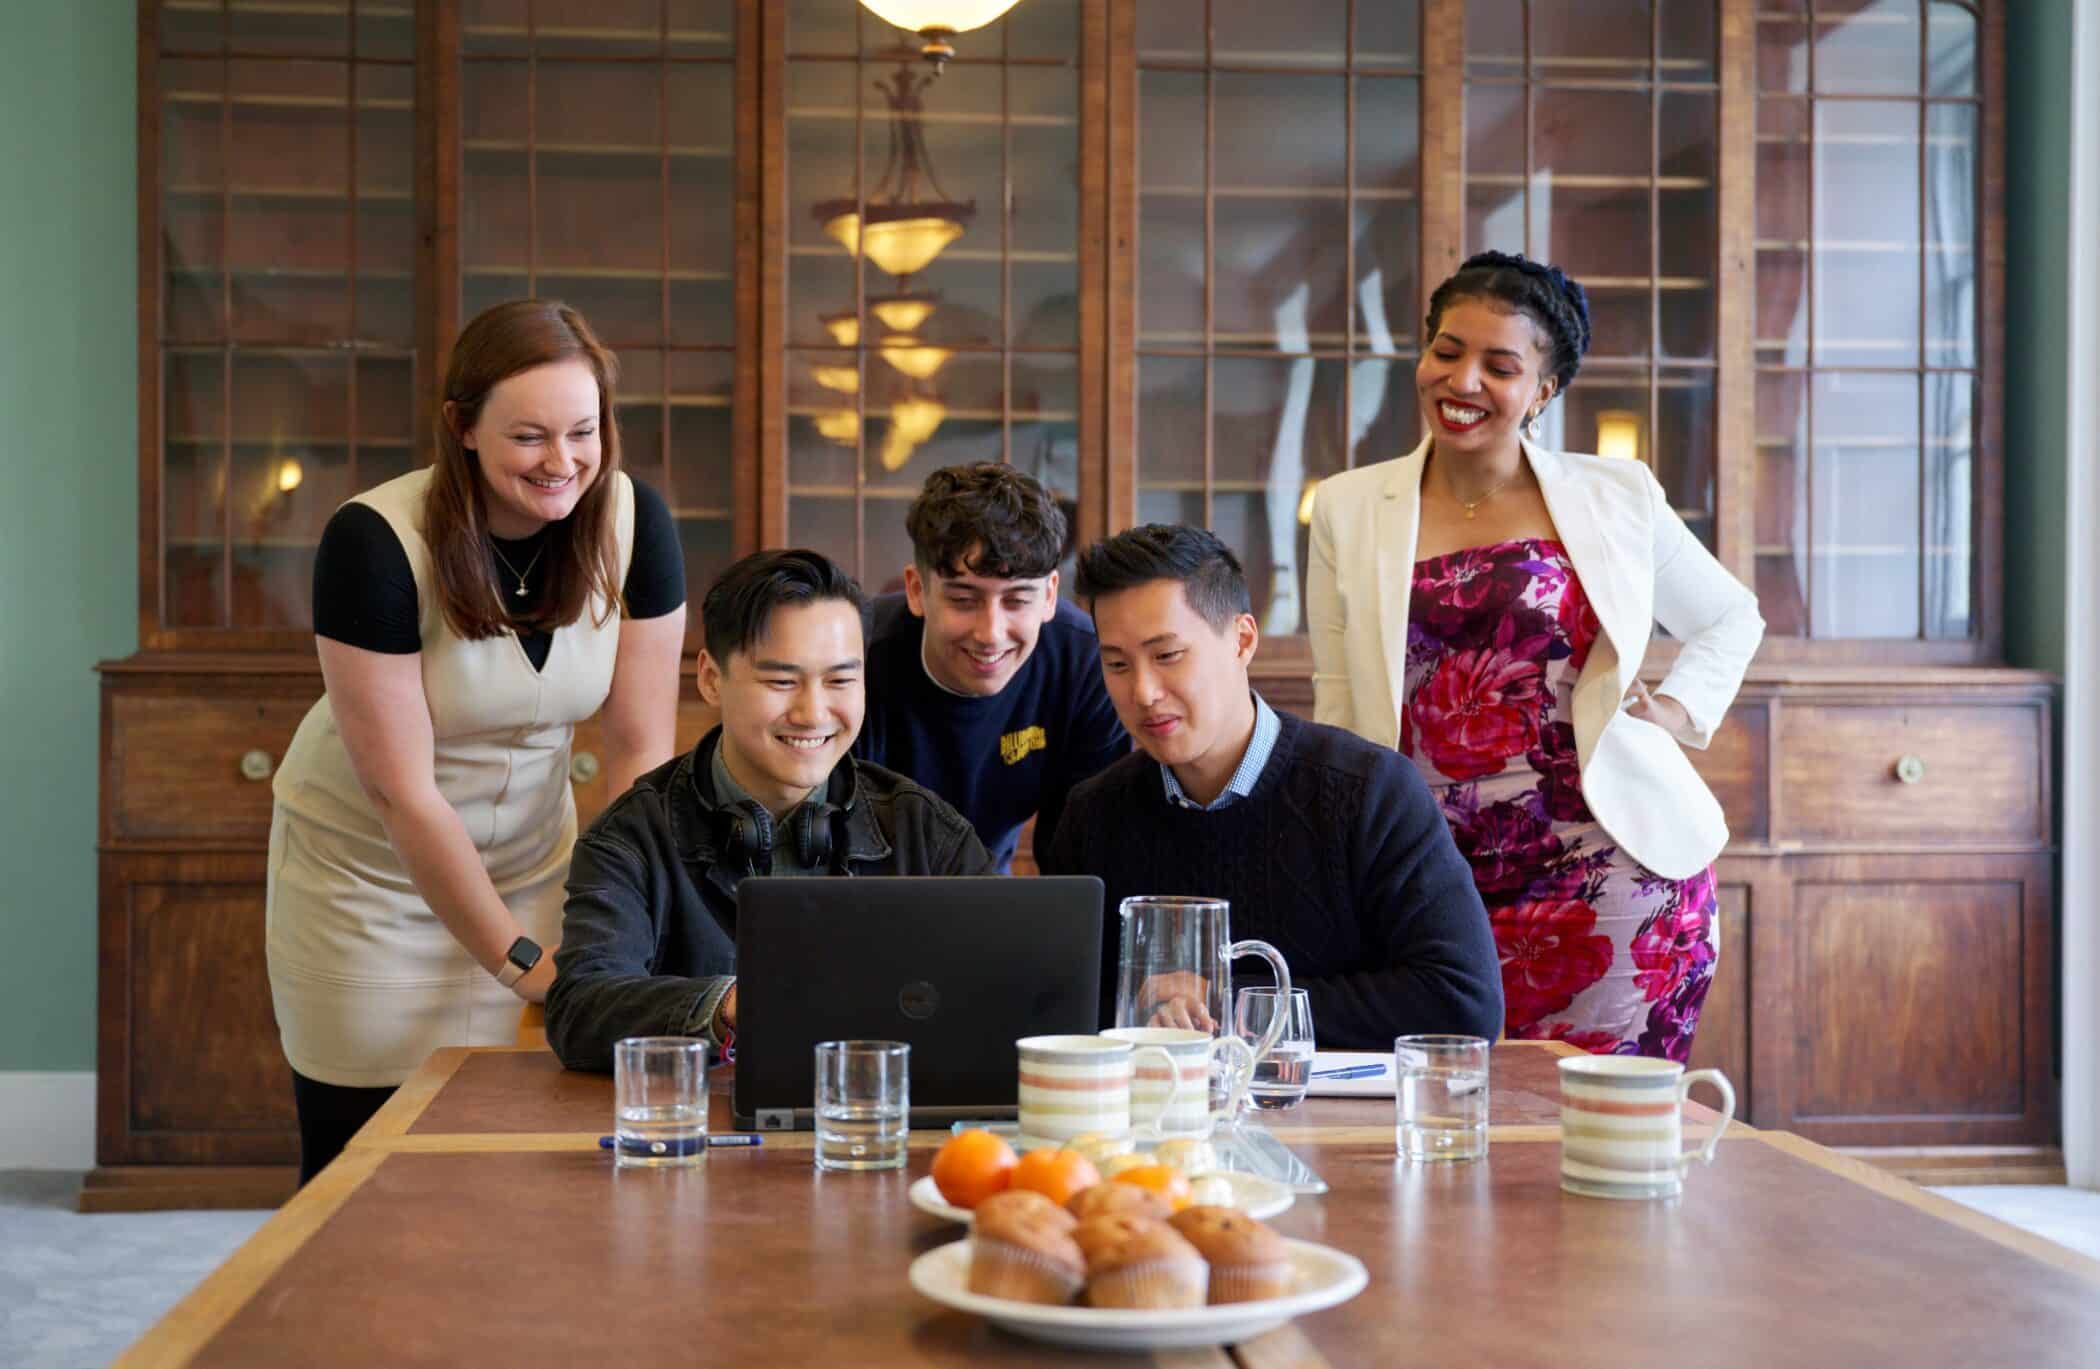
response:
[(2064, 668), (2068, 166), (2071, 4), (2014, 0), (2006, 6), (2006, 659), (2056, 672)]

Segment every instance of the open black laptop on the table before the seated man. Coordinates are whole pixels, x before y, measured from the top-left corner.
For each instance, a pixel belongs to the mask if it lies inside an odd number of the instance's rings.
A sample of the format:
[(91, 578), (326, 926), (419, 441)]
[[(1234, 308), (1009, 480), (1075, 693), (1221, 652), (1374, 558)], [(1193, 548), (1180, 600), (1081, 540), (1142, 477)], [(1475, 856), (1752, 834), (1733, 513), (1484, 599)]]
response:
[(1014, 1041), (1098, 1031), (1100, 880), (737, 884), (743, 1130), (815, 1125), (817, 1041), (911, 1044), (911, 1125), (1014, 1117)]

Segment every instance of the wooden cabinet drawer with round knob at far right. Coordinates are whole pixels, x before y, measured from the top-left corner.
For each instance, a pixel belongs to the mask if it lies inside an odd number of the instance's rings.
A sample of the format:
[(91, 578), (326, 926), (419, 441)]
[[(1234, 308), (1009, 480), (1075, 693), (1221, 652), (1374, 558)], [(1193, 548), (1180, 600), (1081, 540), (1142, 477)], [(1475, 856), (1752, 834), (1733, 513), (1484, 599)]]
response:
[(1798, 842), (2045, 846), (2035, 703), (1785, 703), (1783, 836)]

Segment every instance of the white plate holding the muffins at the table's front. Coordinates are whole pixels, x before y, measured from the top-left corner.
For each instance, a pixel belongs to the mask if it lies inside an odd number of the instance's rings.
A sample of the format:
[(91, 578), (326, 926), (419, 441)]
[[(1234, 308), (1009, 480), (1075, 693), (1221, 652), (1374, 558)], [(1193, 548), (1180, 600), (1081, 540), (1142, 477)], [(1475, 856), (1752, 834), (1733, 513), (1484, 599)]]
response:
[(1369, 1275), (1354, 1256), (1329, 1245), (1287, 1241), (1298, 1291), (1262, 1302), (1224, 1302), (1205, 1308), (1082, 1308), (1014, 1302), (972, 1293), (970, 1243), (951, 1241), (911, 1262), (911, 1287), (958, 1312), (974, 1312), (989, 1323), (1060, 1346), (1090, 1350), (1168, 1350), (1174, 1346), (1224, 1346), (1281, 1327), (1292, 1317), (1331, 1308), (1363, 1291)]

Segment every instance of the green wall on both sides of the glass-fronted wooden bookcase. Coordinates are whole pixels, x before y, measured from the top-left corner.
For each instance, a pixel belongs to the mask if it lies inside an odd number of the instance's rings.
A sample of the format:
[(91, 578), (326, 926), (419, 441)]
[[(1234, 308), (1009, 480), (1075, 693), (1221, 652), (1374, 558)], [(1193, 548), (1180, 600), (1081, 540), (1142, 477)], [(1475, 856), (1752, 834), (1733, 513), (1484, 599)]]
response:
[[(2064, 661), (2071, 6), (2008, 4), (2006, 649)], [(132, 0), (0, 0), (0, 1071), (94, 1065), (94, 661), (136, 645)]]

